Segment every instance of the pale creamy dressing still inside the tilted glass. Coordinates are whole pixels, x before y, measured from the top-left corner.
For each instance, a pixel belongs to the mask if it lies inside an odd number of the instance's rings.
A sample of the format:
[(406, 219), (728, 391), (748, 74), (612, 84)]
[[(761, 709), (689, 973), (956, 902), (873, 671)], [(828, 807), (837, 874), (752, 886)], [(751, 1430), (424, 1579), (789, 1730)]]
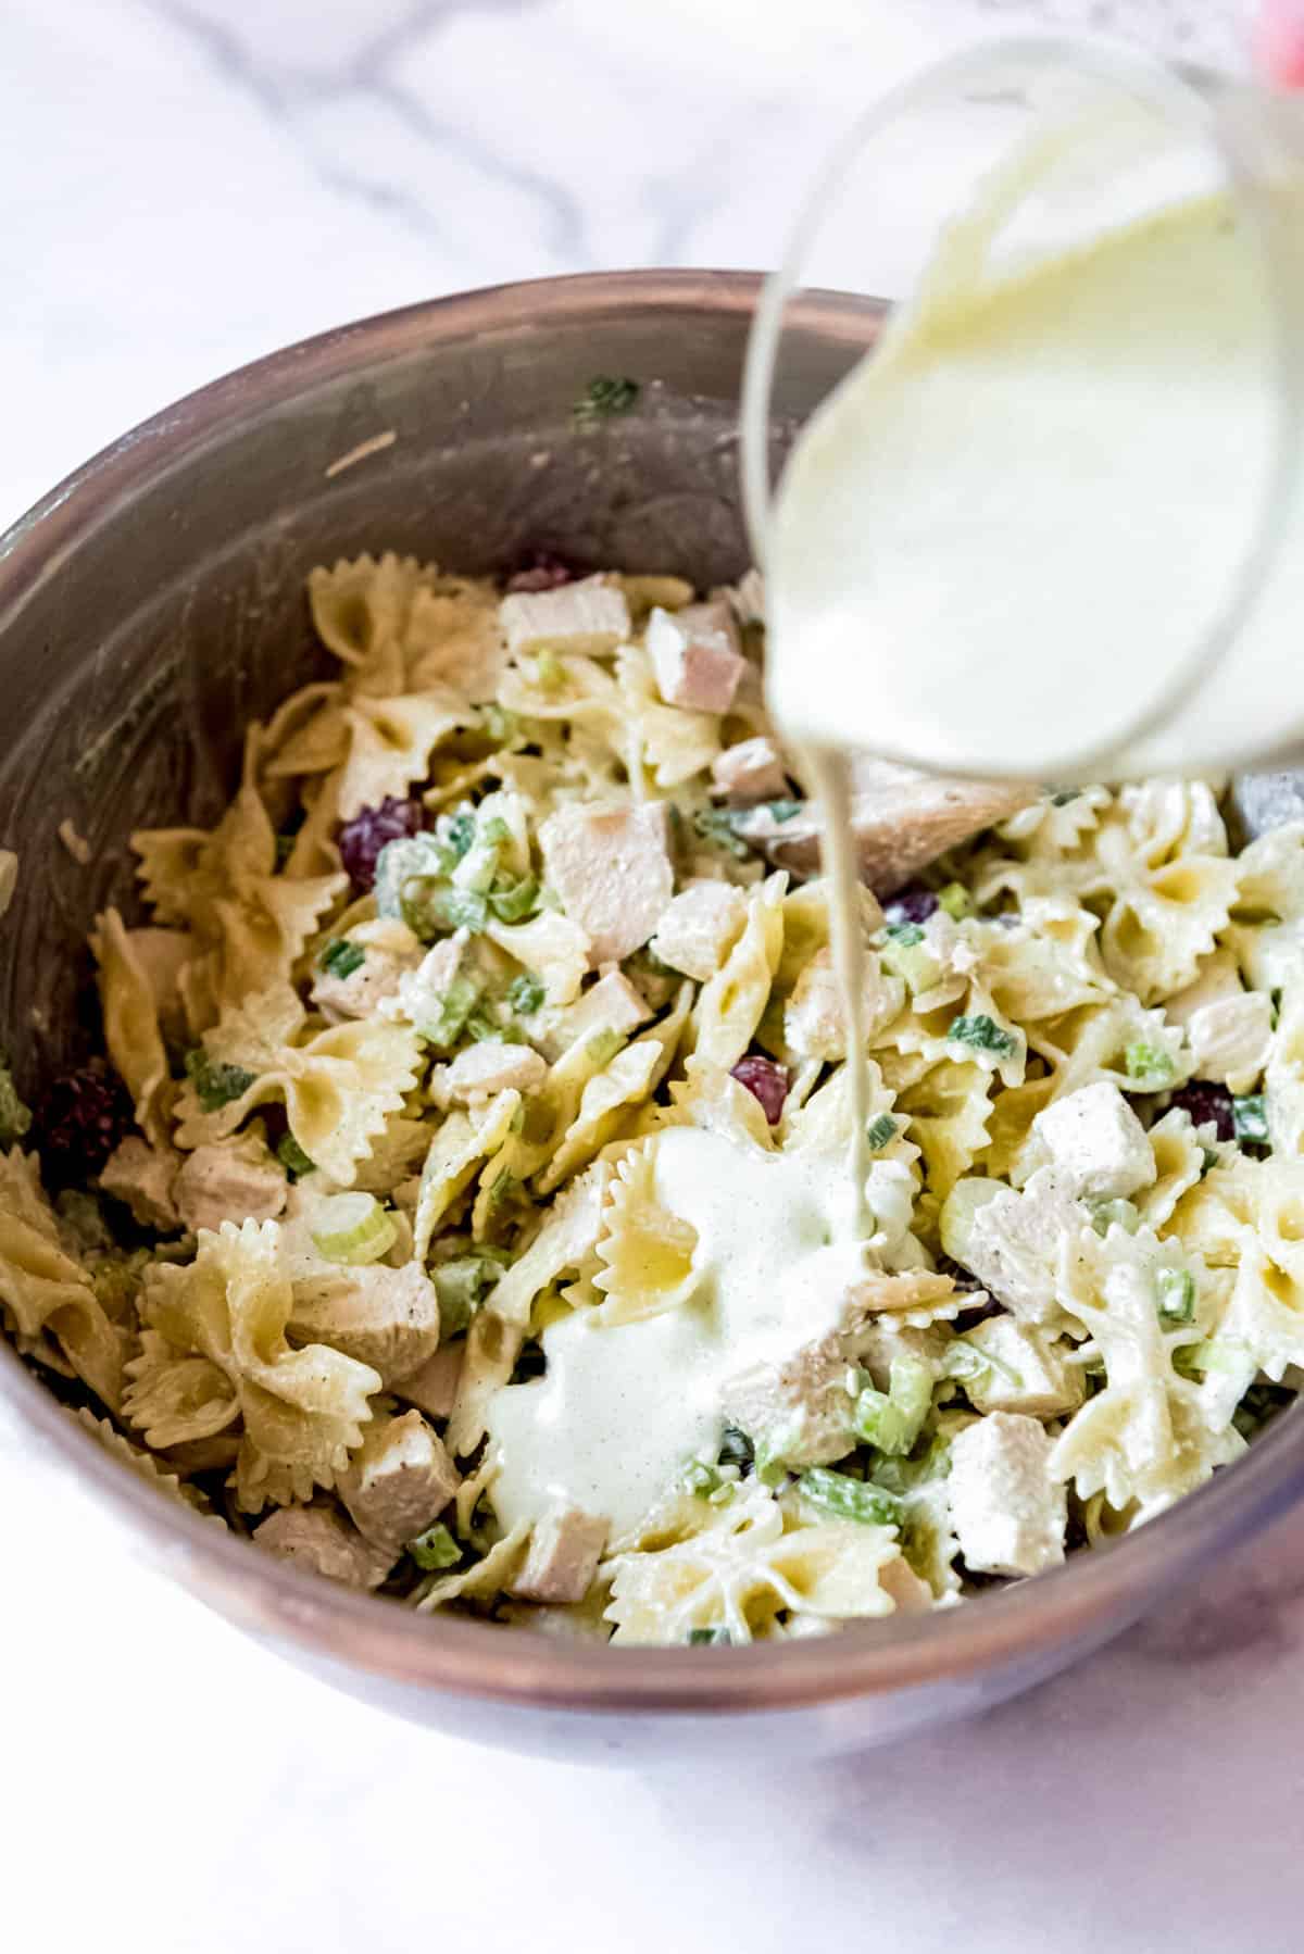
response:
[[(1030, 197), (1036, 152), (1026, 170)], [(784, 471), (766, 565), (776, 719), (1022, 778), (1267, 750), (1304, 723), (1298, 510), (1275, 582), (1183, 690), (1273, 485), (1255, 238), (1214, 195), (995, 276), (1009, 197), (1003, 180), (950, 227)]]

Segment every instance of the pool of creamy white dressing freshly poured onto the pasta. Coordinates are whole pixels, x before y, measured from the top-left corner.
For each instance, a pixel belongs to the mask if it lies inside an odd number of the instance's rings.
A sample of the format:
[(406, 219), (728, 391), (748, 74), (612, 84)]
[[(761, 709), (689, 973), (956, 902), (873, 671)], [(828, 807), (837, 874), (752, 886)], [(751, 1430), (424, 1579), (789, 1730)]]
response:
[(716, 1456), (721, 1387), (837, 1329), (866, 1270), (848, 1184), (827, 1155), (762, 1153), (673, 1127), (647, 1143), (663, 1208), (698, 1231), (686, 1301), (635, 1323), (581, 1309), (543, 1331), (545, 1376), (489, 1409), (504, 1526), (549, 1507), (637, 1526), (686, 1464)]

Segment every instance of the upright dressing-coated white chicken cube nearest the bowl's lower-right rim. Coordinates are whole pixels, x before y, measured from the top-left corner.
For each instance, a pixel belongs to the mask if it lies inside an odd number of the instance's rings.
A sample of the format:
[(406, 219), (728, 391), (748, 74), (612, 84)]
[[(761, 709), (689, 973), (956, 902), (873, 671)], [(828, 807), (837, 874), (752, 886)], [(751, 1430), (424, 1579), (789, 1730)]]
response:
[(1064, 1487), (1036, 1419), (993, 1411), (950, 1440), (946, 1499), (972, 1573), (1038, 1575), (1064, 1559)]

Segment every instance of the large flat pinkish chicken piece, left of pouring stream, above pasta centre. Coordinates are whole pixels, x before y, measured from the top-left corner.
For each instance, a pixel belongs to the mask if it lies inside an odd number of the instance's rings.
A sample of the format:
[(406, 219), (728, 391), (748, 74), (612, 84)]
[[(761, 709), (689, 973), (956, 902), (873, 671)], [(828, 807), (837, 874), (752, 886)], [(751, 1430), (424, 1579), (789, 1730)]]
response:
[(588, 936), (588, 967), (620, 963), (674, 895), (665, 803), (559, 807), (540, 827), (547, 881)]

